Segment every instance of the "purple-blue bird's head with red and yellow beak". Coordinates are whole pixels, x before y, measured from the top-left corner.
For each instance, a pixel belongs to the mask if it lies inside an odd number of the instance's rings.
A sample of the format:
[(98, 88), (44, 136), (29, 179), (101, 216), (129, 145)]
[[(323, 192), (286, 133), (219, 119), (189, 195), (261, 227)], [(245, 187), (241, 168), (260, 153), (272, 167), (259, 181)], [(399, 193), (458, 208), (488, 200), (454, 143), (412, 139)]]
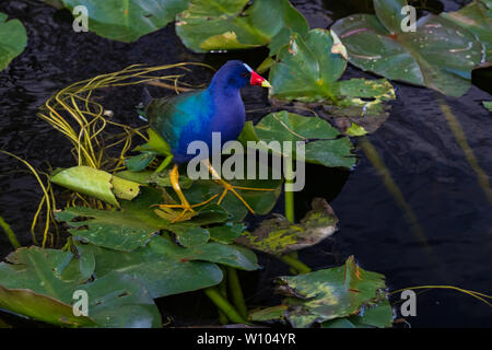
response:
[(271, 88), (270, 83), (248, 65), (239, 60), (227, 61), (213, 77), (212, 83), (220, 83), (227, 88), (241, 89), (246, 85)]

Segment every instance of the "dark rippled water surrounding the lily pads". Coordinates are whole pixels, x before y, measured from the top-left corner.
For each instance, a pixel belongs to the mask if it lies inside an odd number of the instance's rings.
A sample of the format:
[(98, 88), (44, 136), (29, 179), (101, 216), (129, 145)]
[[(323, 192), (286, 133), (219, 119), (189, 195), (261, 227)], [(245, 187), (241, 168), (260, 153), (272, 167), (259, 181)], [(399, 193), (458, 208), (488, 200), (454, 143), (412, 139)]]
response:
[[(464, 1), (467, 2), (467, 1)], [(445, 1), (445, 11), (454, 11), (461, 1)], [(312, 26), (326, 27), (330, 16), (347, 15), (351, 7), (337, 1), (293, 1)], [(220, 67), (225, 60), (241, 58), (258, 65), (266, 51), (253, 50), (213, 55), (188, 51), (175, 35), (173, 24), (147, 35), (133, 44), (99, 38), (91, 33), (71, 31), (68, 12), (56, 11), (39, 1), (2, 1), (0, 11), (20, 19), (27, 28), (28, 46), (7, 70), (0, 72), (0, 149), (26, 159), (36, 168), (70, 166), (73, 160), (68, 142), (36, 117), (37, 107), (69, 83), (117, 71), (131, 63), (165, 65), (203, 61)], [(348, 75), (371, 77), (349, 67)], [(207, 82), (203, 71), (191, 82)], [(457, 285), (492, 293), (492, 214), (491, 202), (477, 180), (445, 116), (437, 94), (422, 88), (395, 83), (397, 101), (386, 124), (367, 138), (401, 191), (415, 221), (408, 218), (395, 196), (385, 186), (376, 168), (358, 148), (360, 162), (349, 174), (321, 167), (307, 168), (307, 187), (296, 196), (301, 217), (315, 196), (331, 200), (340, 219), (339, 232), (301, 257), (314, 268), (340, 264), (355, 255), (361, 266), (386, 275), (391, 290), (422, 284)], [(138, 89), (115, 95), (107, 108), (122, 122), (139, 125), (133, 105), (140, 101)], [(157, 92), (159, 93), (159, 92)], [(268, 105), (265, 91), (244, 93), (247, 109)], [(491, 95), (473, 86), (460, 98), (444, 98), (456, 116), (468, 143), (485, 174), (492, 174), (491, 115), (481, 101)], [(262, 114), (260, 113), (259, 116)], [(251, 114), (250, 118), (258, 117)], [(22, 244), (30, 244), (30, 223), (40, 189), (34, 177), (11, 159), (0, 155), (0, 214), (11, 224)], [(281, 203), (279, 203), (281, 209)], [(408, 209), (407, 209), (408, 210)], [(420, 228), (420, 234), (417, 229)], [(422, 234), (426, 244), (422, 244)], [(12, 248), (0, 235), (0, 257)], [(280, 265), (268, 265), (263, 272), (243, 275), (253, 304), (271, 304), (270, 279), (286, 272)], [(250, 282), (250, 283), (249, 283)], [(173, 299), (160, 306), (167, 314), (181, 314), (196, 322), (199, 310), (208, 305), (198, 293), (188, 298), (189, 307), (173, 307)], [(398, 298), (394, 299), (397, 301)], [(418, 296), (418, 316), (409, 317), (412, 327), (491, 327), (492, 308), (455, 291), (434, 290)], [(199, 316), (201, 317), (201, 316)], [(210, 315), (204, 315), (208, 322)]]

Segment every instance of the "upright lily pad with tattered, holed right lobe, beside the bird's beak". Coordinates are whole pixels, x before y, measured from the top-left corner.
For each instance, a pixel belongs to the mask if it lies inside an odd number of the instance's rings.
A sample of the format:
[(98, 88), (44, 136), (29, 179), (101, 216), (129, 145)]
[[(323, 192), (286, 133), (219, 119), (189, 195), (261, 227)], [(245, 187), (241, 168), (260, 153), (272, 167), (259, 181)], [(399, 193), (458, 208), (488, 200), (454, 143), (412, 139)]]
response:
[(339, 81), (345, 66), (345, 48), (333, 32), (313, 30), (305, 37), (294, 33), (271, 67), (271, 96), (320, 104), (335, 117), (384, 121), (386, 103), (395, 100), (391, 84), (385, 79)]

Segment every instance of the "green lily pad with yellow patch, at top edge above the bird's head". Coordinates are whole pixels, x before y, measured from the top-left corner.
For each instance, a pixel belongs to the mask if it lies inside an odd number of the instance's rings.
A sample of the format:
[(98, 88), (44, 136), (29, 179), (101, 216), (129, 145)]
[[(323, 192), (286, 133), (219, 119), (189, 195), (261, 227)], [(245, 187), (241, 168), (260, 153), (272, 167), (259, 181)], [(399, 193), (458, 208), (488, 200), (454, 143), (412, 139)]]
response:
[(176, 33), (196, 52), (263, 46), (282, 28), (308, 31), (288, 0), (191, 0), (176, 22)]

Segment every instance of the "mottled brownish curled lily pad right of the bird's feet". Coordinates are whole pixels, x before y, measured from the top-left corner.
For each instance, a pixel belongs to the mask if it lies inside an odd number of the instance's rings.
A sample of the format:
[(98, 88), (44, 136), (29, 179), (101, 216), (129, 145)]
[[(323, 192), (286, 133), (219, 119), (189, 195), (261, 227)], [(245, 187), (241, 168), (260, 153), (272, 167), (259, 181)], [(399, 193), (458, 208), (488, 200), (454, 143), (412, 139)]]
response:
[(313, 210), (300, 223), (282, 215), (265, 220), (253, 233), (245, 232), (235, 242), (263, 253), (279, 255), (318, 244), (333, 234), (338, 219), (321, 198), (313, 200)]

